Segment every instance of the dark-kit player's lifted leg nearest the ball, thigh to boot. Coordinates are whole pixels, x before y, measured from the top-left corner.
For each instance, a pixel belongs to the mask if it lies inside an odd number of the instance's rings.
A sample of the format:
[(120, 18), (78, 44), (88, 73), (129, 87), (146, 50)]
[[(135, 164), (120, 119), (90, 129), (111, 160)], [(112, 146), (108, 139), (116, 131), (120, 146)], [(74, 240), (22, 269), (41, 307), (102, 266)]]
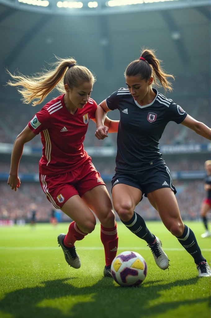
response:
[(122, 223), (140, 239), (144, 239), (148, 243), (155, 263), (165, 270), (168, 268), (168, 257), (162, 250), (160, 240), (148, 230), (144, 219), (134, 212), (135, 206), (140, 202), (141, 197), (140, 189), (127, 184), (118, 183), (112, 188), (114, 209)]

